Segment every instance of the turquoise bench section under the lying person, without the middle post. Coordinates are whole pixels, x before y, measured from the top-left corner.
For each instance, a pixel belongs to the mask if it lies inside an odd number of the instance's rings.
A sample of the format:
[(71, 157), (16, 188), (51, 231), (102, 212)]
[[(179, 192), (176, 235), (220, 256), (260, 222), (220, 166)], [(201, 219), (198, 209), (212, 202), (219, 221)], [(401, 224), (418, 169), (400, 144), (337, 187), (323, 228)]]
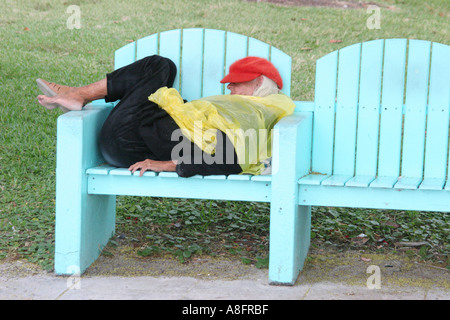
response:
[[(174, 87), (184, 99), (226, 94), (220, 84), (230, 64), (245, 56), (270, 59), (290, 95), (291, 57), (259, 40), (210, 29), (171, 30), (130, 43), (115, 52), (115, 69), (159, 54), (177, 65)], [(271, 176), (195, 176), (172, 172), (131, 175), (112, 168), (97, 148), (99, 130), (114, 107), (95, 101), (58, 118), (55, 272), (84, 272), (114, 233), (116, 195), (270, 202)]]

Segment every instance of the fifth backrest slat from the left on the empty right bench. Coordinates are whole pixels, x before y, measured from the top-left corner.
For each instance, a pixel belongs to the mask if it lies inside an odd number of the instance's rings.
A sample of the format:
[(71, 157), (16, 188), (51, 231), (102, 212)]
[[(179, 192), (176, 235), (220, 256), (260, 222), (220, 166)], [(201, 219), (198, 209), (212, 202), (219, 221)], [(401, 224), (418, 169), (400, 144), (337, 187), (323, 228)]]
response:
[(402, 176), (422, 177), (431, 43), (409, 42)]

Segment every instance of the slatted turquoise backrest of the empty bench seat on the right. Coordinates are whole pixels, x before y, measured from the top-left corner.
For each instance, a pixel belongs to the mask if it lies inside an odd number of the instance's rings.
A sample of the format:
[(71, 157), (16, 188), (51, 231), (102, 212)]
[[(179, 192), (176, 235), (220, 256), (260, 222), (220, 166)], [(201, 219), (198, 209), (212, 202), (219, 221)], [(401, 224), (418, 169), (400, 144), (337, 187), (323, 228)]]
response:
[(374, 40), (317, 61), (313, 172), (445, 179), (450, 47)]

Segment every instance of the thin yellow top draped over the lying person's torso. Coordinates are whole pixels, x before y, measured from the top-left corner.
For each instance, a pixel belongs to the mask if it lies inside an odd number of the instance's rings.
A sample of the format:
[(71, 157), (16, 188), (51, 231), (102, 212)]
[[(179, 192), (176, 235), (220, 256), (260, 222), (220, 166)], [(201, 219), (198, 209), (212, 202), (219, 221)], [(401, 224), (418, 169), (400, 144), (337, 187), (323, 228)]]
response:
[(175, 120), (183, 135), (204, 152), (214, 154), (216, 130), (224, 132), (236, 150), (242, 173), (260, 174), (261, 161), (272, 156), (272, 129), (294, 112), (284, 94), (267, 97), (218, 95), (185, 103), (174, 88), (163, 87), (149, 97)]

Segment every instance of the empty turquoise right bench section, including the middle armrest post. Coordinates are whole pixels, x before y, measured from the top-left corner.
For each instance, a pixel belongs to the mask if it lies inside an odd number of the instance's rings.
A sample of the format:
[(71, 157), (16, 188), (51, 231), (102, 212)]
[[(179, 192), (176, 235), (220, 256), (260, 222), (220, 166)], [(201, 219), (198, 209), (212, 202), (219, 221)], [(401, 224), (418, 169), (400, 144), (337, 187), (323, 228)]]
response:
[(450, 212), (449, 58), (447, 45), (387, 39), (317, 60), (313, 105), (278, 125), (275, 281), (302, 266), (311, 206)]

